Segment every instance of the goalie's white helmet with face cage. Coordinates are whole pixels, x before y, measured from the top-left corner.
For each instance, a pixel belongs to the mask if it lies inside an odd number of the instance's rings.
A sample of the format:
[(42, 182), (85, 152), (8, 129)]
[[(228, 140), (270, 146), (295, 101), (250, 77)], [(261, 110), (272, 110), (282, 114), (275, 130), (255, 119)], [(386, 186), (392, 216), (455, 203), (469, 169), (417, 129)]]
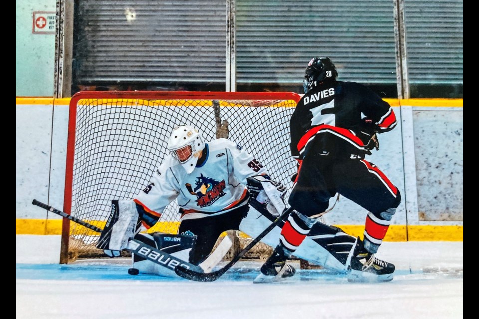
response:
[(205, 142), (198, 129), (180, 125), (171, 133), (167, 148), (189, 174), (195, 169), (200, 151), (205, 148)]

